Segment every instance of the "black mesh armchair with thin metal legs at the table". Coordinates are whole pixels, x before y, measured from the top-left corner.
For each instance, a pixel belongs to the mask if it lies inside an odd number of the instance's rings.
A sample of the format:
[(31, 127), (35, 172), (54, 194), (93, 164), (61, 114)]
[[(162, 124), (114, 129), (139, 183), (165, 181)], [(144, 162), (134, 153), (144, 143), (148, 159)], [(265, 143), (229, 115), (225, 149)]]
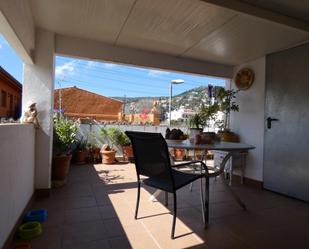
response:
[[(203, 205), (203, 220), (208, 223), (208, 209), (209, 209), (209, 177), (206, 165), (201, 161), (191, 161), (188, 163), (181, 163), (171, 165), (169, 151), (165, 139), (160, 133), (146, 133), (126, 131), (130, 138), (133, 147), (135, 167), (137, 173), (137, 201), (135, 209), (135, 219), (137, 219), (141, 182), (144, 184), (172, 193), (174, 199), (174, 216), (172, 225), (172, 239), (175, 238), (175, 225), (177, 215), (177, 195), (176, 191), (193, 181), (205, 178), (205, 200), (201, 184), (201, 197)], [(201, 171), (199, 174), (182, 172), (176, 168), (185, 167), (193, 164), (199, 164)], [(141, 180), (140, 176), (146, 176)]]

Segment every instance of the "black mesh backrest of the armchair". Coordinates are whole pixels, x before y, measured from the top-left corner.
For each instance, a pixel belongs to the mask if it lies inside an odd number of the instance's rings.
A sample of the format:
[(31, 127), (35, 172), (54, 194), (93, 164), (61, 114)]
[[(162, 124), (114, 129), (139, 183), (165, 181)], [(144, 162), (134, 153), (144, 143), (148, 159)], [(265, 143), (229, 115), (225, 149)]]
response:
[(173, 181), (168, 147), (160, 133), (126, 131), (139, 175)]

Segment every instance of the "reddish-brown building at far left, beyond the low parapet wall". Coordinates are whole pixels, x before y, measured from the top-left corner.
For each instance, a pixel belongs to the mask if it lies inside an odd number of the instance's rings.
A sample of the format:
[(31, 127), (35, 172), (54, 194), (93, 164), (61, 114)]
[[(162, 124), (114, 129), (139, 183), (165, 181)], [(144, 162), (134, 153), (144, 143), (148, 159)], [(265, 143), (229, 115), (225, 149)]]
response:
[(20, 118), (21, 94), (22, 85), (0, 67), (0, 118)]

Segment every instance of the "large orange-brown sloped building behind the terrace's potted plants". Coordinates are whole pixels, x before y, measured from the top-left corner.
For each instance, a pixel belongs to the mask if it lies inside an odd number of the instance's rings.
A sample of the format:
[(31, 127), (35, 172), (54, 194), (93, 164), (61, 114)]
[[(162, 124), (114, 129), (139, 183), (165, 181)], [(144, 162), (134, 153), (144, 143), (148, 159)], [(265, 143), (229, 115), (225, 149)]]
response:
[[(59, 96), (61, 92), (61, 95)], [(95, 120), (116, 121), (122, 112), (123, 102), (104, 97), (77, 87), (55, 90), (54, 108), (60, 109), (70, 118), (91, 118)]]

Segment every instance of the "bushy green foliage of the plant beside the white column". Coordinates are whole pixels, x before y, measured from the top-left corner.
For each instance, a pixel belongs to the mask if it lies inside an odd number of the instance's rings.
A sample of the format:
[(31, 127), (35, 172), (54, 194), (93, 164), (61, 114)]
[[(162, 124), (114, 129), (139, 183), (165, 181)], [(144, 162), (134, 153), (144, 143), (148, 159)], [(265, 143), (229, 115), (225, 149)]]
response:
[(72, 144), (76, 141), (78, 124), (63, 116), (54, 117), (53, 149), (56, 155), (71, 152)]

